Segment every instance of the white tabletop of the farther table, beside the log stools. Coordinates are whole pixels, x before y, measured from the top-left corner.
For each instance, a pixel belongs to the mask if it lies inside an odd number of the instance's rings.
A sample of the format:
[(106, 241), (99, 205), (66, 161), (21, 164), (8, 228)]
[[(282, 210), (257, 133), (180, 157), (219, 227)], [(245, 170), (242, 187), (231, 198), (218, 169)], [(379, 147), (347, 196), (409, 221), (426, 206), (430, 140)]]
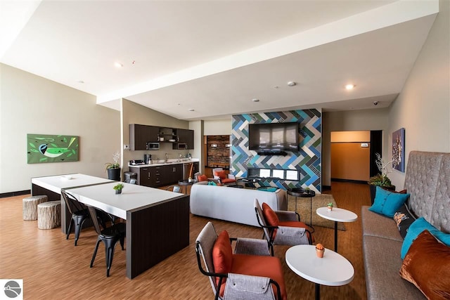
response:
[(51, 190), (54, 193), (61, 193), (63, 188), (75, 188), (78, 186), (92, 185), (98, 183), (113, 182), (110, 179), (89, 176), (84, 174), (65, 174), (56, 176), (34, 177), (31, 183), (39, 185), (42, 188)]

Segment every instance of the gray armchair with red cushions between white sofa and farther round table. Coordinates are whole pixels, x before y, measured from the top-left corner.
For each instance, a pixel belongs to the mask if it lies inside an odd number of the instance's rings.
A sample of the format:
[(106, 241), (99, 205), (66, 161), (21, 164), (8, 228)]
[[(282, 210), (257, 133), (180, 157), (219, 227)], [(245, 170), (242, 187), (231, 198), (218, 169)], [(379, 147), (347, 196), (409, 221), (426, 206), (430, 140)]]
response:
[(261, 208), (259, 201), (255, 199), (255, 213), (272, 256), (274, 244), (295, 246), (314, 242), (309, 226), (300, 222), (300, 216), (295, 211), (274, 211), (265, 202)]

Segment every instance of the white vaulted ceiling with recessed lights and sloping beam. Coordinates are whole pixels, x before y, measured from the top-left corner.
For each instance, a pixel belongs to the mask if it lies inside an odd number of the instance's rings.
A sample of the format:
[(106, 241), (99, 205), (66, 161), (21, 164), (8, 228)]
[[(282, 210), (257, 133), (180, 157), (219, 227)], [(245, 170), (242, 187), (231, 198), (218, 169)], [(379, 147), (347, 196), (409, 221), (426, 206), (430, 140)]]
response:
[(401, 92), (438, 11), (437, 0), (2, 0), (0, 62), (185, 120), (375, 109)]

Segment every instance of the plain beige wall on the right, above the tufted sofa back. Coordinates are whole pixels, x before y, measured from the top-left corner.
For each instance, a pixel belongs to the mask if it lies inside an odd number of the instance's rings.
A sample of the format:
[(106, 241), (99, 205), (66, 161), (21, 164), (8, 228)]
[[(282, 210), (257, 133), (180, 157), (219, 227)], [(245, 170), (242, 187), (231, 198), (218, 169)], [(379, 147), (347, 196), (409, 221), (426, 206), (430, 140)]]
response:
[[(450, 1), (439, 1), (435, 24), (389, 113), (390, 134), (405, 128), (406, 166), (411, 150), (450, 152), (449, 20)], [(389, 155), (392, 157), (392, 150)], [(399, 171), (390, 174), (399, 189), (404, 185), (404, 176)]]

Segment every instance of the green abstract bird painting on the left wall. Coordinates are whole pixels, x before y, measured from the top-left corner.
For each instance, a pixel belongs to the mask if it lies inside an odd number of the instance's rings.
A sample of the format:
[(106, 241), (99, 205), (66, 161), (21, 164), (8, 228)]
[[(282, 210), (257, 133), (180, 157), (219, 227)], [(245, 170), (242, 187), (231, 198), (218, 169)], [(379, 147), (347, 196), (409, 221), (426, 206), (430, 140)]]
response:
[(78, 136), (27, 134), (27, 163), (77, 162)]

